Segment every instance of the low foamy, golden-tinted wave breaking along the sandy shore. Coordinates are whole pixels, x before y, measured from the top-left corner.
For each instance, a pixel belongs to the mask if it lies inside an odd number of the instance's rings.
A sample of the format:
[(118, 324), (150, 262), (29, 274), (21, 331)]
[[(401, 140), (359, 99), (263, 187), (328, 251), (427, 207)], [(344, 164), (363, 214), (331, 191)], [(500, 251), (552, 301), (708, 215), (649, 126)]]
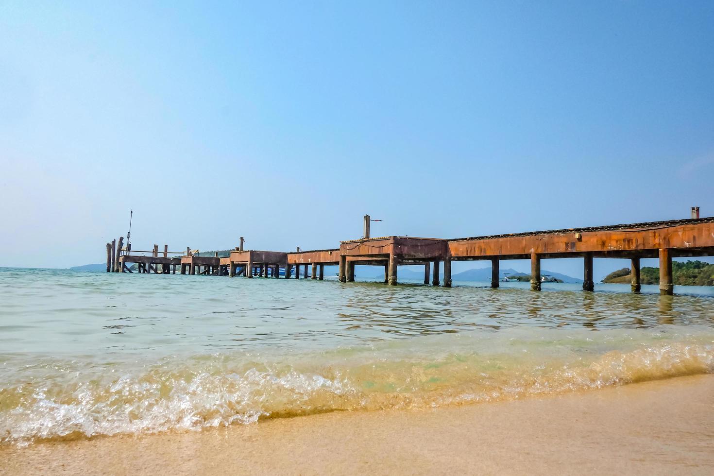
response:
[(712, 373), (710, 328), (499, 330), (328, 351), (91, 362), (0, 356), (0, 441), (511, 400)]

